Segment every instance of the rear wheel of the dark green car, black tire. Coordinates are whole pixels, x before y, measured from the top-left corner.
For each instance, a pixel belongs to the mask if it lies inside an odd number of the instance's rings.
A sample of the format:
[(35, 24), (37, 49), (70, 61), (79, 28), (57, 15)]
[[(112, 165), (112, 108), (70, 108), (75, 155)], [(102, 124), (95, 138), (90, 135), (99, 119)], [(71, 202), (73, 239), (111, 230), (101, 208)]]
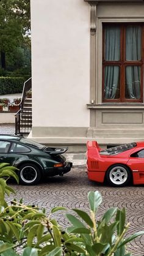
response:
[(18, 172), (20, 183), (24, 185), (36, 185), (41, 179), (41, 172), (34, 164), (23, 164)]

